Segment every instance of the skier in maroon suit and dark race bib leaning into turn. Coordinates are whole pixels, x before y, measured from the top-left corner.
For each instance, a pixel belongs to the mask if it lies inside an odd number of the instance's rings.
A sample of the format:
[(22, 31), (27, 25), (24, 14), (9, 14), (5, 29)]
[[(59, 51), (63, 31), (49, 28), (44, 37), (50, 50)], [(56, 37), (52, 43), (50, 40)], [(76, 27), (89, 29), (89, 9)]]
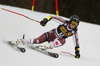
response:
[(41, 49), (52, 49), (55, 47), (60, 47), (65, 44), (65, 39), (74, 36), (75, 41), (75, 58), (80, 58), (80, 52), (79, 52), (79, 43), (78, 43), (78, 34), (77, 34), (77, 26), (79, 25), (79, 17), (76, 15), (73, 15), (70, 17), (70, 20), (64, 20), (60, 17), (53, 17), (48, 16), (47, 18), (44, 18), (40, 25), (46, 26), (47, 22), (49, 22), (52, 19), (56, 19), (63, 24), (60, 24), (57, 28), (50, 30), (49, 32), (46, 32), (42, 34), (38, 38), (28, 38), (28, 39), (21, 39), (17, 40), (16, 43), (18, 44), (41, 44), (43, 42), (48, 41), (48, 44), (39, 45)]

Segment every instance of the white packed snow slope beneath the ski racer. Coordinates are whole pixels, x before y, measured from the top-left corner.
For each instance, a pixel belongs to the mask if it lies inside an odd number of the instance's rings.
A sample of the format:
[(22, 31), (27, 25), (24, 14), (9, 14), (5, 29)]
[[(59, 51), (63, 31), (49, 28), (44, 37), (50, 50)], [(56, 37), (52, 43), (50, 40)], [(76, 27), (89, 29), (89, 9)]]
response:
[[(27, 15), (38, 21), (52, 15), (4, 5), (0, 7)], [(23, 46), (26, 52), (21, 53), (4, 42), (20, 39), (23, 34), (26, 38), (37, 38), (58, 25), (59, 23), (51, 20), (45, 27), (42, 27), (37, 22), (0, 9), (0, 66), (100, 66), (100, 25), (80, 22), (78, 27), (80, 59), (60, 53), (60, 51), (66, 51), (74, 54), (72, 37), (66, 39), (66, 44), (62, 47), (48, 50), (58, 53), (59, 58), (34, 51), (29, 46)]]

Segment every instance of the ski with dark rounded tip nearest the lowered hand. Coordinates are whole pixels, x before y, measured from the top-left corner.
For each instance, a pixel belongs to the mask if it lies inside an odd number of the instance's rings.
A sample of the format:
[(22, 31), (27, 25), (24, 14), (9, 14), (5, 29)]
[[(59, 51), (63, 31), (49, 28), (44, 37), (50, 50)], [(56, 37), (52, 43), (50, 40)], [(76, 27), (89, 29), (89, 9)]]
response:
[(59, 55), (57, 53), (52, 53), (52, 52), (46, 51), (44, 49), (40, 49), (38, 46), (33, 47), (33, 49), (38, 51), (38, 52), (41, 52), (43, 54), (49, 55), (51, 57), (54, 57), (54, 58), (58, 58), (59, 57)]

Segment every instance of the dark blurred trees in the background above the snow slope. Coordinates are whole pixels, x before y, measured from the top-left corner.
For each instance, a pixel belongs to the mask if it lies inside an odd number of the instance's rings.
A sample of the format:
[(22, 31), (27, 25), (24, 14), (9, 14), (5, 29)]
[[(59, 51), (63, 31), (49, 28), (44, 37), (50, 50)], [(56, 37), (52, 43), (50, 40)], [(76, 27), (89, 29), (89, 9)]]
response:
[[(0, 0), (0, 4), (11, 5), (21, 8), (32, 8), (32, 0)], [(76, 14), (81, 21), (100, 24), (100, 1), (99, 0), (58, 0), (59, 15), (70, 17)], [(35, 11), (56, 13), (55, 0), (35, 0)]]

